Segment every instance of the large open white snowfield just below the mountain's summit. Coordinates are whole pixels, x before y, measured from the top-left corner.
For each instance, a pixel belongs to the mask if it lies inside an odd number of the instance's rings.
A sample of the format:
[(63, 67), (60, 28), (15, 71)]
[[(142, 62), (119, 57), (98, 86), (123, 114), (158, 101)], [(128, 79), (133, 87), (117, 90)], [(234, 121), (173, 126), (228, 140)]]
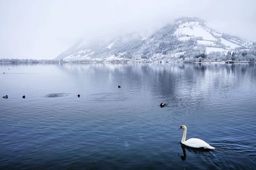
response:
[[(184, 25), (185, 24), (185, 25)], [(217, 41), (209, 30), (198, 25), (197, 22), (189, 22), (189, 24), (184, 23), (179, 25), (179, 28), (174, 32), (174, 34), (179, 37), (190, 36), (190, 37), (202, 37), (204, 40)], [(182, 27), (182, 25), (184, 27)], [(180, 27), (181, 26), (181, 27)]]

